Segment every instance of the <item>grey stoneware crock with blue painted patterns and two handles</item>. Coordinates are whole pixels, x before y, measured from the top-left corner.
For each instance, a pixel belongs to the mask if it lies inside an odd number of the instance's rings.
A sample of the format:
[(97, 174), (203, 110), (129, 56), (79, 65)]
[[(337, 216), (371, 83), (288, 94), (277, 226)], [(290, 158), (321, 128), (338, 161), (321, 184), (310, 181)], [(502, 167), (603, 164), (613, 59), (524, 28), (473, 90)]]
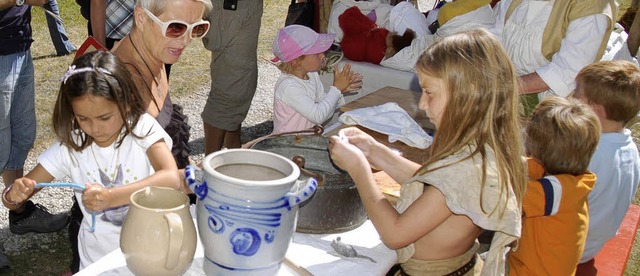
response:
[(227, 149), (187, 167), (207, 275), (276, 275), (296, 226), (298, 204), (317, 188), (278, 154)]

